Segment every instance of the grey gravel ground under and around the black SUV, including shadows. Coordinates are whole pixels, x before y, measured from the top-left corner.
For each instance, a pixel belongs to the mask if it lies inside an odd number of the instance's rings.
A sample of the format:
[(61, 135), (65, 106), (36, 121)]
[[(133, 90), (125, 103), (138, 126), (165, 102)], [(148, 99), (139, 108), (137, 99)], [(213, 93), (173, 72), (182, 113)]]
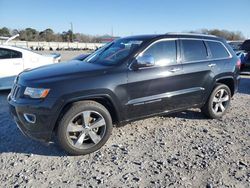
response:
[(8, 92), (0, 92), (0, 187), (250, 187), (249, 76), (220, 120), (191, 109), (137, 121), (77, 157), (23, 136)]

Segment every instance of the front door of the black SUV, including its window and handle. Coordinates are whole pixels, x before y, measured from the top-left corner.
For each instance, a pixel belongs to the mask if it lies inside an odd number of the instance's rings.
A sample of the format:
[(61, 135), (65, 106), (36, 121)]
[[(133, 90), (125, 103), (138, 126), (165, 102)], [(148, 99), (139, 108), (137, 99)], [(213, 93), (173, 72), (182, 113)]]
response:
[(179, 108), (183, 89), (182, 65), (178, 63), (177, 40), (159, 40), (140, 55), (151, 55), (155, 65), (128, 71), (126, 104), (129, 119)]

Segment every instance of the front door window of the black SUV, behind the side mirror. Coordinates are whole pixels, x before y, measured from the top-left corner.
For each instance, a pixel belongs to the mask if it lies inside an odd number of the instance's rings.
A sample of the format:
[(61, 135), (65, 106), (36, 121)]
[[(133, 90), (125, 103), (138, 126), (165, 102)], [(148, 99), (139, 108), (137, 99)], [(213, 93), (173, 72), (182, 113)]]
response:
[(150, 46), (143, 54), (153, 56), (155, 64), (159, 66), (176, 63), (176, 41), (157, 42)]

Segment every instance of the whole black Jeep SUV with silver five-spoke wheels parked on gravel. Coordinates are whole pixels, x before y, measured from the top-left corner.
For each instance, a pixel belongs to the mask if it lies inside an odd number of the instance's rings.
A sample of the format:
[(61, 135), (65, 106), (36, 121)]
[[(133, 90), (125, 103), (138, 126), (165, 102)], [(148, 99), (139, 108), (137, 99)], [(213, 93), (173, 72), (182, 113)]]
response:
[(239, 82), (240, 61), (215, 36), (165, 34), (117, 39), (83, 61), (22, 72), (8, 96), (25, 134), (69, 154), (88, 154), (113, 125), (198, 107), (222, 117)]

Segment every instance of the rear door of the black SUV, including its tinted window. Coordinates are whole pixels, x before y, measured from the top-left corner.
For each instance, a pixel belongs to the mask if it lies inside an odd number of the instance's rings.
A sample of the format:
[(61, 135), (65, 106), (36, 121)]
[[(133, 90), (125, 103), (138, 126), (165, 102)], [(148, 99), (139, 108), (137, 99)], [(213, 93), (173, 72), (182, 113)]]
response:
[(182, 107), (196, 106), (204, 102), (206, 92), (213, 82), (210, 54), (201, 39), (181, 39), (181, 61), (186, 94)]

